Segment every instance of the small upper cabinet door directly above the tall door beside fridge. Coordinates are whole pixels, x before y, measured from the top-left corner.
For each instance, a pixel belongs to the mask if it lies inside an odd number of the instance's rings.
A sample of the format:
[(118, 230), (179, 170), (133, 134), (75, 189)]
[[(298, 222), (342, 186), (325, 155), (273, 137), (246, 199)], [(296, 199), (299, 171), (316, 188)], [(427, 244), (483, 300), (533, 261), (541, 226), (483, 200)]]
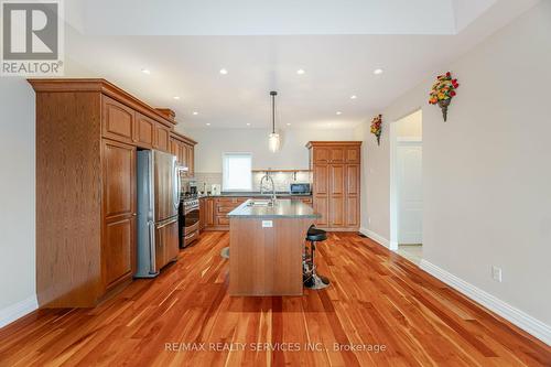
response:
[(104, 137), (123, 142), (134, 138), (134, 111), (107, 96), (101, 96)]

